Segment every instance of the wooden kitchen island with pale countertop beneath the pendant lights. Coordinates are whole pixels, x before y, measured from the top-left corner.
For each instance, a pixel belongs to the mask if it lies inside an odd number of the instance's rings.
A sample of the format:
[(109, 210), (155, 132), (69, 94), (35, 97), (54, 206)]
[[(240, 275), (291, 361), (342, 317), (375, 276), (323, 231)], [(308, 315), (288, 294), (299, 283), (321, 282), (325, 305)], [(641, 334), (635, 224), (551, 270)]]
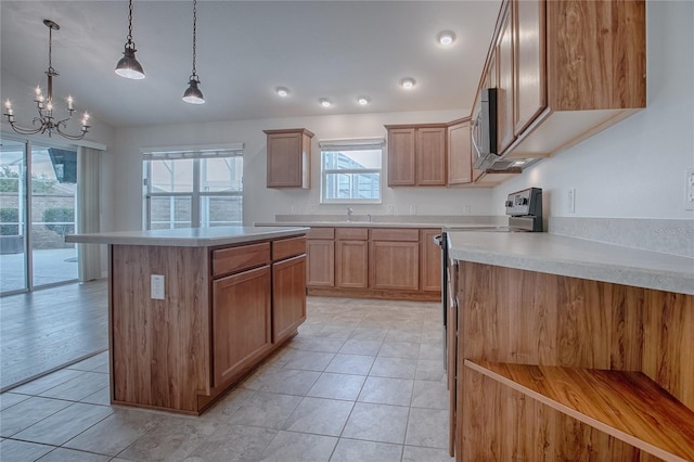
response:
[(108, 244), (111, 402), (200, 414), (306, 319), (306, 228), (78, 234)]

